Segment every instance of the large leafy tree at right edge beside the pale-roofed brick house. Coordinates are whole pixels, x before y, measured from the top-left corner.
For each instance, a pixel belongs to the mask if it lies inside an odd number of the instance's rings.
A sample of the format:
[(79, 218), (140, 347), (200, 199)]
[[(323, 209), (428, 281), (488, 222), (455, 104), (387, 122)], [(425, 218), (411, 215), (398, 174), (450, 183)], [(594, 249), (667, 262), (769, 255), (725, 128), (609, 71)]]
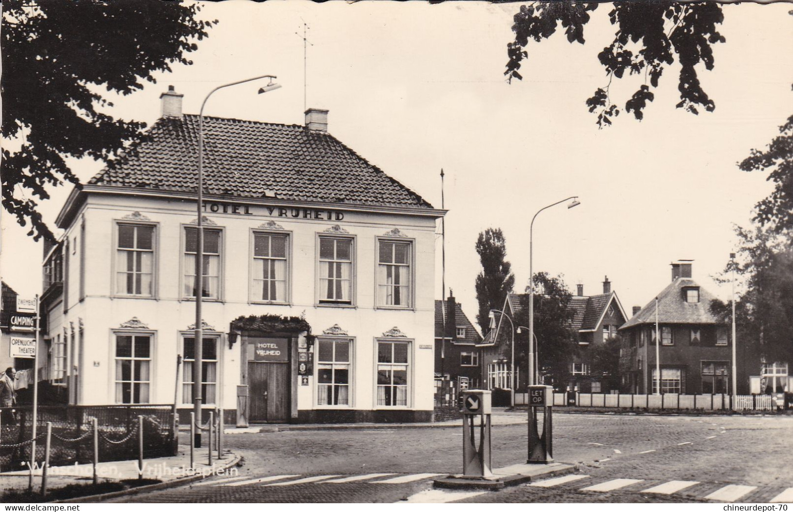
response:
[[(735, 273), (741, 277), (743, 292), (736, 301), (736, 328), (739, 345), (749, 354), (769, 363), (793, 363), (793, 247), (791, 233), (755, 227), (736, 227), (740, 241)], [(730, 282), (732, 263), (718, 277)], [(711, 311), (729, 323), (732, 304), (714, 300)], [(757, 371), (759, 369), (756, 369)]]

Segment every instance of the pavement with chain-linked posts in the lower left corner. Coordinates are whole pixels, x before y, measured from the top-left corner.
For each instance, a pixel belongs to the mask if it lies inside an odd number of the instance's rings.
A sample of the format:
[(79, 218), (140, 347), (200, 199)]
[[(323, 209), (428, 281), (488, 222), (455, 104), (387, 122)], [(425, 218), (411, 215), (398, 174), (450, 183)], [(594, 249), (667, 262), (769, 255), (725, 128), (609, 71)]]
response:
[[(132, 487), (123, 491), (113, 492), (115, 495), (135, 494), (140, 491), (151, 491), (157, 488), (174, 487), (195, 480), (202, 480), (213, 475), (234, 475), (239, 455), (224, 450), (223, 458), (218, 460), (213, 452), (213, 464), (209, 464), (206, 447), (195, 450), (195, 464), (190, 468), (190, 445), (179, 445), (178, 455), (174, 457), (157, 457), (144, 459), (143, 472), (138, 470), (137, 460), (117, 460), (97, 464), (98, 483), (125, 483), (142, 477), (151, 485)], [(0, 489), (6, 491), (25, 491), (29, 483), (29, 470), (0, 472)], [(48, 469), (48, 492), (54, 494), (57, 489), (67, 485), (90, 485), (93, 482), (93, 464), (74, 464), (70, 466), (53, 466)], [(154, 482), (152, 482), (154, 480)], [(132, 483), (134, 485), (134, 483)], [(108, 487), (107, 485), (104, 486)], [(121, 487), (121, 486), (120, 486)], [(41, 490), (41, 468), (33, 471), (33, 490)], [(119, 494), (121, 493), (121, 494)], [(111, 497), (106, 495), (105, 497)], [(98, 496), (85, 496), (74, 501), (98, 501)], [(72, 501), (72, 500), (68, 500)]]

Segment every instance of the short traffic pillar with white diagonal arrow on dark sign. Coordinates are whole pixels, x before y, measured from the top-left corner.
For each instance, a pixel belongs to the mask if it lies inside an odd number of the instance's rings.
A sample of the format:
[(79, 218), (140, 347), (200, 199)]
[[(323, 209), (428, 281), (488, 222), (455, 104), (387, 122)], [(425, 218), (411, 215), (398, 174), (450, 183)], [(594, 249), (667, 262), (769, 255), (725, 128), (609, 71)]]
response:
[[(490, 453), (490, 404), (489, 391), (472, 389), (462, 398), (462, 476), (485, 478), (492, 476)], [(479, 446), (473, 418), (479, 416)]]

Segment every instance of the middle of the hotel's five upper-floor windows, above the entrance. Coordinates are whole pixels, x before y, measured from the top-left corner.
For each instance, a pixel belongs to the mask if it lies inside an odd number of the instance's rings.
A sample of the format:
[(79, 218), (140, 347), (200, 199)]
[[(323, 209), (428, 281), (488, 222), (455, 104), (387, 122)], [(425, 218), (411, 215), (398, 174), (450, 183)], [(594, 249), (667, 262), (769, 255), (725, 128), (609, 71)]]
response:
[(253, 235), (253, 300), (286, 302), (286, 235)]

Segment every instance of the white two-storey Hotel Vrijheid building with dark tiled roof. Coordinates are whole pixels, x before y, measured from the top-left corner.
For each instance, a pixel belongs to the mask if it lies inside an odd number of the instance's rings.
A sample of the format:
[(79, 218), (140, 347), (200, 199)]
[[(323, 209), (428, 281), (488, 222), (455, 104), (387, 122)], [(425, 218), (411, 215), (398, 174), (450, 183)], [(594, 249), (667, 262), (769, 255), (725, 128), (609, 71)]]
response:
[[(70, 403), (176, 403), (184, 418), (198, 117), (173, 88), (162, 101), (147, 136), (59, 213), (40, 365)], [(431, 420), (444, 212), (331, 136), (327, 119), (205, 117), (202, 382), (226, 422), (239, 384), (251, 422)]]

